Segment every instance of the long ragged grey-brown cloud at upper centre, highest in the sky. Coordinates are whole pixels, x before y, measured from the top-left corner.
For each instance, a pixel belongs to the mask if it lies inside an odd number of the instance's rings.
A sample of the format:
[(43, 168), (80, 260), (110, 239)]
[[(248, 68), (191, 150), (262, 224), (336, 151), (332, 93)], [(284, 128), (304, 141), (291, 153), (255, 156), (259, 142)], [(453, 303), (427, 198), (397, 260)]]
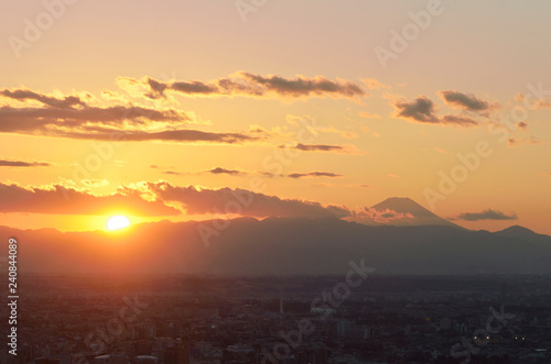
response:
[(361, 87), (348, 80), (331, 80), (324, 76), (284, 78), (277, 75), (261, 76), (258, 74), (238, 71), (225, 78), (210, 81), (186, 80), (161, 82), (150, 77), (141, 80), (119, 77), (120, 87), (134, 90), (141, 87), (143, 96), (150, 99), (165, 98), (166, 91), (184, 96), (244, 96), (262, 98), (309, 98), (331, 97), (356, 99), (367, 96)]

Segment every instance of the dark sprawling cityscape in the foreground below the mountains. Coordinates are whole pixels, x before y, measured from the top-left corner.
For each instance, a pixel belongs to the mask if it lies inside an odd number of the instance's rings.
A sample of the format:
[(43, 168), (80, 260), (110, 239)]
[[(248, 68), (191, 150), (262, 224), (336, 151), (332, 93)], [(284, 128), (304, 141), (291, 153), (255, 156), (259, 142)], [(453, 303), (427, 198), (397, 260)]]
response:
[(0, 362), (551, 361), (549, 276), (367, 272), (356, 265), (346, 276), (317, 277), (26, 275), (17, 356), (2, 348)]

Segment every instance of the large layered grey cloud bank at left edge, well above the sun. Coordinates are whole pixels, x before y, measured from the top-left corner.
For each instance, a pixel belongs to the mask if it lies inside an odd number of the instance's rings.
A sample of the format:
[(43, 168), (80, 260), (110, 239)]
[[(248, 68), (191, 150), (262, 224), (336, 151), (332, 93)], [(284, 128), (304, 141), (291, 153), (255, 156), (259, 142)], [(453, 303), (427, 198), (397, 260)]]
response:
[(0, 107), (0, 133), (44, 135), (77, 140), (130, 142), (238, 144), (257, 141), (239, 132), (205, 132), (187, 129), (190, 114), (174, 109), (142, 106), (90, 106), (71, 96), (53, 98), (25, 89), (3, 90), (1, 96), (19, 101), (35, 100), (42, 107)]

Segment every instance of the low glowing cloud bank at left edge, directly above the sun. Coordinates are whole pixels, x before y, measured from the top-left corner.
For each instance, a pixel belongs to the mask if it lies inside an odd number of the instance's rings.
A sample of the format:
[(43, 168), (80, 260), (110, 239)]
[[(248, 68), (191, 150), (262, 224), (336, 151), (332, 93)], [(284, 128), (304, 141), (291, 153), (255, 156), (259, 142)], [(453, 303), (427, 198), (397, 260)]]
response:
[(128, 191), (96, 196), (62, 185), (22, 187), (15, 184), (0, 184), (0, 212), (106, 214), (112, 210), (123, 210), (134, 216), (181, 213), (161, 201), (149, 201)]

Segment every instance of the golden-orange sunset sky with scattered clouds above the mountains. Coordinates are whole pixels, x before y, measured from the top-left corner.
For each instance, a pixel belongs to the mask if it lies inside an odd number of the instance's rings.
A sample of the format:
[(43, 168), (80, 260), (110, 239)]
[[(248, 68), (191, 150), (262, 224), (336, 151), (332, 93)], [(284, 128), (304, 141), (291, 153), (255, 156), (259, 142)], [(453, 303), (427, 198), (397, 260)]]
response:
[(1, 225), (396, 196), (551, 234), (549, 1), (67, 2), (0, 4)]

